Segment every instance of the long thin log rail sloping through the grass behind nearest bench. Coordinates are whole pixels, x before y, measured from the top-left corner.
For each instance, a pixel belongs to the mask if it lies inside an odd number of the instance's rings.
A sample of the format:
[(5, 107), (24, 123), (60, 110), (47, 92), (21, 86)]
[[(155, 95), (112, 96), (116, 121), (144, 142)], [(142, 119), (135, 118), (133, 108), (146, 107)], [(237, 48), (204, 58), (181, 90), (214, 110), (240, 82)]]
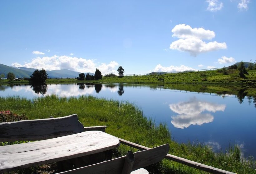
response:
[[(120, 142), (122, 144), (126, 144), (126, 145), (128, 145), (130, 147), (133, 147), (133, 148), (136, 148), (136, 149), (140, 149), (140, 150), (150, 149), (148, 147), (145, 147), (145, 146), (142, 146), (140, 144), (136, 144), (136, 143), (133, 143), (133, 142), (130, 142), (130, 141), (127, 141), (127, 140), (123, 140), (121, 138), (118, 138), (118, 139), (120, 140)], [(185, 165), (190, 166), (190, 167), (197, 168), (197, 169), (205, 171), (205, 172), (210, 172), (210, 173), (214, 173), (214, 174), (235, 174), (233, 172), (229, 172), (229, 171), (225, 171), (225, 170), (222, 170), (222, 169), (211, 167), (211, 166), (208, 166), (208, 165), (205, 165), (205, 164), (197, 163), (197, 162), (185, 159), (185, 158), (180, 158), (180, 157), (177, 157), (175, 155), (171, 155), (169, 153), (166, 155), (165, 158), (170, 159), (172, 161), (176, 161), (178, 163), (185, 164)]]

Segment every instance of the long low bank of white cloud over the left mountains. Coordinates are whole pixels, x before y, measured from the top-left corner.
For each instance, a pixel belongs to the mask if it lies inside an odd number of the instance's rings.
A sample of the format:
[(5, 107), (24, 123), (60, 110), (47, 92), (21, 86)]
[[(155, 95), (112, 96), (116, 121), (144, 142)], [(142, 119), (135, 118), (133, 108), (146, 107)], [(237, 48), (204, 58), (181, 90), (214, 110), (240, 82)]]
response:
[(95, 72), (96, 68), (98, 68), (101, 73), (115, 73), (117, 74), (117, 66), (118, 63), (112, 61), (108, 64), (101, 63), (96, 64), (92, 59), (84, 59), (78, 57), (71, 56), (57, 56), (54, 55), (52, 57), (36, 57), (32, 59), (31, 62), (24, 62), (24, 65), (21, 65), (17, 62), (13, 63), (14, 67), (27, 67), (27, 68), (35, 68), (45, 70), (60, 70), (60, 69), (68, 69), (72, 71), (78, 72)]

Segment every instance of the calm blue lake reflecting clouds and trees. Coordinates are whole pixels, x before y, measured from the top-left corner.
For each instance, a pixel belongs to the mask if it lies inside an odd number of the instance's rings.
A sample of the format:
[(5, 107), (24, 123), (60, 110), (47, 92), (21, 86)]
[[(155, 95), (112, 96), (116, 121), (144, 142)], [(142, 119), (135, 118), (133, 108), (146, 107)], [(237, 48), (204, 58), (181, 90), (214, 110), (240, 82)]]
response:
[[(183, 88), (199, 89), (199, 86), (183, 85)], [(93, 95), (129, 101), (156, 124), (166, 123), (172, 139), (179, 143), (200, 142), (211, 146), (215, 152), (224, 152), (229, 145), (236, 144), (244, 158), (256, 157), (256, 96), (247, 96), (243, 91), (237, 95), (205, 92), (203, 88), (202, 92), (193, 92), (152, 84), (0, 85), (2, 97)]]

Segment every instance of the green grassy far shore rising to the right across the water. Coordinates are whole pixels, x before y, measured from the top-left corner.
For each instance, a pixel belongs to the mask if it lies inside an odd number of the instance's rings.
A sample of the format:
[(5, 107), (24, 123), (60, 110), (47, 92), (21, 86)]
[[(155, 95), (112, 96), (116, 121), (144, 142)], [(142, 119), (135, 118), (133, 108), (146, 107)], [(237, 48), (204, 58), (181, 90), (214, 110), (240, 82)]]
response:
[[(163, 79), (163, 80), (159, 80)], [(1, 83), (7, 83), (8, 80), (2, 80)], [(27, 83), (27, 80), (13, 81), (12, 83)], [(227, 70), (224, 75), (222, 70), (199, 71), (186, 73), (171, 73), (163, 75), (145, 75), (145, 76), (124, 76), (102, 77), (101, 80), (76, 80), (70, 79), (48, 79), (47, 83), (73, 83), (73, 82), (88, 82), (88, 83), (211, 83), (211, 84), (244, 84), (256, 86), (256, 70), (248, 70), (248, 74), (244, 78), (239, 76), (238, 70)]]

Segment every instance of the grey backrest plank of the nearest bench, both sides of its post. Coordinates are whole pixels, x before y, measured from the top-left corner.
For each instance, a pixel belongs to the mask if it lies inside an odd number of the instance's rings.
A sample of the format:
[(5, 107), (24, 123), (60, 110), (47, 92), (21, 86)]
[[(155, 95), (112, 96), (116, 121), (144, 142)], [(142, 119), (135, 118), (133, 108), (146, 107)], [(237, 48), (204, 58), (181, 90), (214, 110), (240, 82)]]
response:
[[(169, 144), (164, 144), (149, 150), (134, 153), (134, 164), (132, 171), (159, 162), (169, 151)], [(93, 164), (86, 167), (73, 169), (58, 174), (117, 174), (122, 172), (126, 156)]]

